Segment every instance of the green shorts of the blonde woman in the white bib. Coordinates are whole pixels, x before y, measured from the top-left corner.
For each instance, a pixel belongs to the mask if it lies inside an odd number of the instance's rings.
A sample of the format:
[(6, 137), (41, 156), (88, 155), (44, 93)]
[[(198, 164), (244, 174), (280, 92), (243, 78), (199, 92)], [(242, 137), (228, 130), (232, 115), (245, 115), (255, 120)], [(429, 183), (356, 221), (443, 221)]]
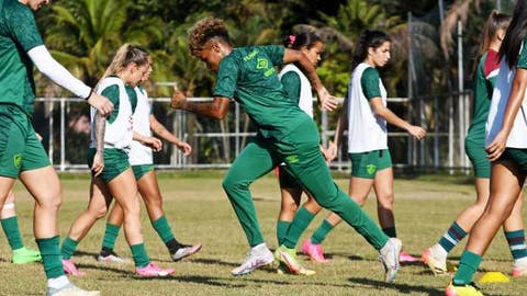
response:
[[(96, 148), (90, 148), (88, 151), (88, 167), (93, 164), (93, 157), (96, 156)], [(105, 183), (112, 181), (115, 177), (130, 168), (128, 155), (122, 149), (104, 148), (104, 169), (102, 169), (99, 177)]]

